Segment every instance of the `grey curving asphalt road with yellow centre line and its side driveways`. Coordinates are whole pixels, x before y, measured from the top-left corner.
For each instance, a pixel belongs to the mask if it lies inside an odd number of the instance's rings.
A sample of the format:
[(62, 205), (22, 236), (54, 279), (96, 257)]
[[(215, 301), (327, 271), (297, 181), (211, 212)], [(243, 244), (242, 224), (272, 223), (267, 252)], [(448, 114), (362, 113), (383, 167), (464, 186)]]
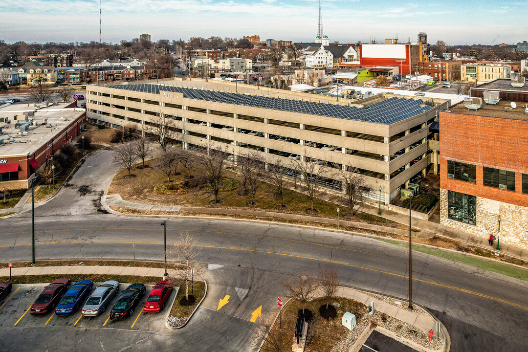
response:
[[(163, 218), (104, 214), (99, 197), (118, 166), (111, 150), (89, 156), (52, 201), (35, 208), (36, 259), (163, 259)], [(86, 187), (83, 187), (86, 186)], [(82, 187), (82, 188), (81, 188)], [(87, 191), (88, 192), (84, 192)], [(31, 213), (0, 220), (0, 261), (31, 260)], [(127, 350), (248, 351), (252, 312), (275, 312), (282, 281), (325, 266), (341, 284), (408, 299), (408, 251), (349, 232), (211, 218), (167, 218), (167, 243), (196, 235), (208, 296), (190, 324), (137, 339)], [(413, 301), (437, 312), (451, 350), (522, 350), (528, 346), (528, 283), (413, 254)], [(217, 311), (220, 299), (229, 303)], [(470, 331), (470, 336), (466, 337)], [(19, 340), (17, 327), (0, 339)], [(120, 337), (115, 337), (119, 341)], [(170, 346), (166, 344), (167, 339)], [(470, 342), (468, 342), (470, 341)]]

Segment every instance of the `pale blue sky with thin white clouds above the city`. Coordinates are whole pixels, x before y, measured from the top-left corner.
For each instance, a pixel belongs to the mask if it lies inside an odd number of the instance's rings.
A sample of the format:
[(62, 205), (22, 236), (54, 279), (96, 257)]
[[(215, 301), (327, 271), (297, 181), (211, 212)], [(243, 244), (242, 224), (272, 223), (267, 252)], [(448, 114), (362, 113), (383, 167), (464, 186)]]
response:
[[(322, 0), (323, 31), (331, 42), (370, 42), (398, 37), (428, 42), (498, 44), (528, 40), (528, 0)], [(152, 40), (190, 37), (313, 42), (318, 0), (101, 0), (102, 41), (139, 34)], [(99, 41), (98, 0), (0, 0), (0, 40)]]

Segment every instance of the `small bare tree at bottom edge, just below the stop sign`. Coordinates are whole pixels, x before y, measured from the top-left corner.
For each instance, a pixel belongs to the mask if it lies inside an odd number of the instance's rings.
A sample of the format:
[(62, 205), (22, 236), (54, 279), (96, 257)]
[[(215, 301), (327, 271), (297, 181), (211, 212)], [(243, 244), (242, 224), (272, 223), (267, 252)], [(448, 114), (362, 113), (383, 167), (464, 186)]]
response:
[[(252, 327), (251, 345), (257, 351), (281, 352), (288, 345), (288, 331), (286, 324), (274, 326), (275, 318), (272, 315), (262, 316), (260, 321)], [(262, 347), (260, 347), (262, 345)]]

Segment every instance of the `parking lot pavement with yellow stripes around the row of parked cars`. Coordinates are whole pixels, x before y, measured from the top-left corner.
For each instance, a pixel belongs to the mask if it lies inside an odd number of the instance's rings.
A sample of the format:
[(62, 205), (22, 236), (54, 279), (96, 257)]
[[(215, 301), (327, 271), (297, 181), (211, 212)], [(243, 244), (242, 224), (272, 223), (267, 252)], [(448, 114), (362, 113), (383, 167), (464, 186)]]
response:
[[(94, 284), (94, 289), (100, 283)], [(143, 305), (147, 300), (148, 293), (152, 285), (146, 286), (146, 294), (139, 301), (134, 309), (133, 316), (127, 320), (113, 321), (109, 319), (111, 307), (119, 297), (119, 293), (128, 287), (128, 283), (119, 284), (119, 292), (112, 298), (106, 312), (97, 317), (84, 317), (81, 311), (77, 311), (70, 316), (57, 316), (54, 313), (46, 313), (41, 316), (32, 316), (29, 309), (35, 299), (42, 292), (46, 284), (27, 284), (14, 285), (11, 293), (0, 302), (0, 326), (15, 328), (36, 328), (36, 327), (55, 327), (55, 328), (80, 328), (80, 329), (125, 329), (133, 331), (150, 331), (157, 332), (165, 328), (165, 318), (172, 307), (172, 303), (177, 294), (177, 289), (171, 293), (168, 298), (168, 304), (165, 310), (160, 313), (145, 313)], [(92, 289), (93, 291), (93, 289)], [(87, 297), (88, 298), (88, 297)], [(84, 303), (84, 302), (82, 302)], [(0, 338), (3, 334), (0, 334)]]

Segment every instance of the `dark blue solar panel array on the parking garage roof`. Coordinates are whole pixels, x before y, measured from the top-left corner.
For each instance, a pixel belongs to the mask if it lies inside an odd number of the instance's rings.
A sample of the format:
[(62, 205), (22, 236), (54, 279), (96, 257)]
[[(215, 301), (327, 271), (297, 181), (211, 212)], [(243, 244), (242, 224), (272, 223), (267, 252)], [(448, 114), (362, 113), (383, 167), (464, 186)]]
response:
[(421, 99), (413, 100), (397, 97), (375, 102), (364, 108), (356, 108), (309, 101), (182, 88), (174, 87), (172, 85), (127, 84), (110, 85), (108, 88), (125, 89), (154, 94), (159, 94), (160, 91), (182, 93), (183, 97), (187, 99), (214, 101), (261, 109), (298, 112), (305, 113), (307, 115), (335, 117), (345, 120), (383, 123), (385, 125), (418, 115), (419, 113), (430, 109), (428, 106), (420, 106), (422, 103)]

